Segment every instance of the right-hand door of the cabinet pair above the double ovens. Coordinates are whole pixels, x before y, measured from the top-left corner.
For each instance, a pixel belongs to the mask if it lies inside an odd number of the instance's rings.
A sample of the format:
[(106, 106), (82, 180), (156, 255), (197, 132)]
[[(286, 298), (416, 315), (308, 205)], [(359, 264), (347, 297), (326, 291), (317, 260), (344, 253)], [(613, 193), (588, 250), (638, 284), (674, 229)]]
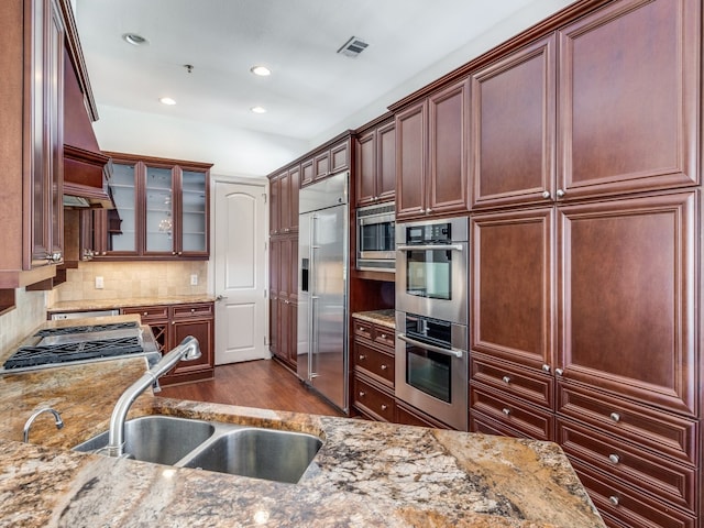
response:
[(426, 213), (469, 210), (465, 82), (428, 99), (430, 188)]

